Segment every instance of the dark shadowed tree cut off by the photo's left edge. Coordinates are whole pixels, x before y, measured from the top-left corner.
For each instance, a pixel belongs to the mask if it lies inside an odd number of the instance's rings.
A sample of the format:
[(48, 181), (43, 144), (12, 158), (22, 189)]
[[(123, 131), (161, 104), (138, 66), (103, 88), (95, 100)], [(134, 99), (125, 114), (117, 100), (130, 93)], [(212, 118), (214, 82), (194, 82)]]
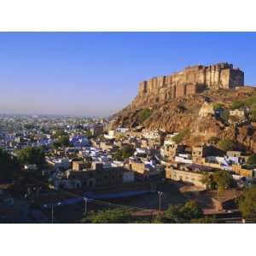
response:
[(14, 178), (15, 172), (19, 172), (20, 165), (15, 157), (0, 148), (0, 181), (10, 182)]

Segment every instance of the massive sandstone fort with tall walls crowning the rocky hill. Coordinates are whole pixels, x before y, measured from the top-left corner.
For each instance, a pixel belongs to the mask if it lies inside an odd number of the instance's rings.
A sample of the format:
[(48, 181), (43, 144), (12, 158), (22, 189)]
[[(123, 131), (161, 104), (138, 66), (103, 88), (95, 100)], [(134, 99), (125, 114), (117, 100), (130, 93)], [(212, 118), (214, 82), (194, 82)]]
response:
[(181, 72), (141, 82), (132, 105), (165, 102), (203, 90), (234, 89), (243, 85), (244, 73), (228, 62), (211, 66), (189, 66)]

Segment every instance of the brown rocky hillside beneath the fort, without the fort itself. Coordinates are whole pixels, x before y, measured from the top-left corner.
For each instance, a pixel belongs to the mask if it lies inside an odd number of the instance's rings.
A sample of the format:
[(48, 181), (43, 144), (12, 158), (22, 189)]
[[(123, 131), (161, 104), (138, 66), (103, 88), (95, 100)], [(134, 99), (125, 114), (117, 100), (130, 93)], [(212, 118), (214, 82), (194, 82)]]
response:
[[(238, 147), (256, 152), (255, 95), (256, 89), (242, 86), (235, 89), (204, 90), (162, 102), (152, 101), (152, 98), (150, 101), (141, 101), (137, 97), (113, 116), (113, 126), (132, 128), (143, 125), (149, 130), (182, 132), (183, 143), (189, 145), (207, 143), (212, 138), (230, 138)], [(222, 112), (234, 110), (234, 102), (247, 102), (242, 105), (244, 112), (247, 111), (246, 118), (230, 121), (224, 118), (224, 114), (216, 114), (219, 106)]]

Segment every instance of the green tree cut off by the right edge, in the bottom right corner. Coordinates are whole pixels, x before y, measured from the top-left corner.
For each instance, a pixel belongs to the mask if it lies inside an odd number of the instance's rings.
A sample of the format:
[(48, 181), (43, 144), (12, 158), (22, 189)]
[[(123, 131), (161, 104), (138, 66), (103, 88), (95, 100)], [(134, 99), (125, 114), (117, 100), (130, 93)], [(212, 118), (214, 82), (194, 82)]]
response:
[(238, 208), (243, 218), (256, 218), (256, 186), (246, 189), (238, 200)]

